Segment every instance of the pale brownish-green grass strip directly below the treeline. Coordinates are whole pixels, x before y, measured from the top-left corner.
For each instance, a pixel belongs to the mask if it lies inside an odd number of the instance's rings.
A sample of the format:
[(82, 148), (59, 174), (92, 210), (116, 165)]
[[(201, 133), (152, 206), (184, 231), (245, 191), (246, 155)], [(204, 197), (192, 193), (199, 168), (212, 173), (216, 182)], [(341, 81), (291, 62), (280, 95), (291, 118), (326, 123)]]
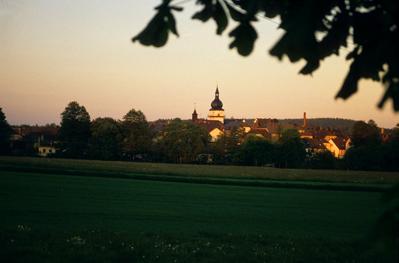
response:
[[(163, 163), (129, 163), (91, 160), (66, 160), (50, 158), (27, 158), (0, 156), (0, 168), (18, 167), (47, 168), (101, 173), (127, 173), (141, 175), (164, 175), (199, 178), (226, 178), (245, 180), (284, 180), (306, 182), (342, 183), (399, 183), (398, 172), (365, 172), (343, 170), (273, 169), (264, 167), (174, 165)], [(7, 169), (5, 169), (7, 170)]]

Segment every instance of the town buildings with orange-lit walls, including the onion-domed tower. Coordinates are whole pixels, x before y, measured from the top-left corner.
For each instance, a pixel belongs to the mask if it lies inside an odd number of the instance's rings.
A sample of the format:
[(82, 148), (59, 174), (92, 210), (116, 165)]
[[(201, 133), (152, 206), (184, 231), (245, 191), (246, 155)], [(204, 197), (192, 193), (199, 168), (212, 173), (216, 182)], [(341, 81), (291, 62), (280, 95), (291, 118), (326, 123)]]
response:
[[(226, 119), (224, 115), (223, 103), (219, 99), (219, 91), (216, 86), (215, 98), (211, 102), (209, 115), (207, 119), (199, 119), (196, 108), (192, 114), (191, 121), (206, 129), (216, 140), (220, 134), (228, 136), (233, 128), (242, 127), (247, 134), (264, 137), (275, 142), (280, 136), (282, 130), (294, 128), (298, 130), (305, 145), (306, 151), (330, 151), (336, 158), (343, 158), (350, 147), (350, 137), (341, 129), (329, 127), (315, 127), (307, 125), (306, 112), (303, 114), (303, 123), (281, 123), (272, 118), (255, 118), (253, 121), (245, 119)], [(168, 123), (150, 123), (149, 129), (153, 138), (157, 138), (159, 132), (167, 126)], [(56, 139), (59, 127), (31, 127), (13, 129), (13, 141), (18, 142), (28, 140), (33, 147), (38, 148), (38, 155), (47, 156), (56, 152), (53, 142)]]

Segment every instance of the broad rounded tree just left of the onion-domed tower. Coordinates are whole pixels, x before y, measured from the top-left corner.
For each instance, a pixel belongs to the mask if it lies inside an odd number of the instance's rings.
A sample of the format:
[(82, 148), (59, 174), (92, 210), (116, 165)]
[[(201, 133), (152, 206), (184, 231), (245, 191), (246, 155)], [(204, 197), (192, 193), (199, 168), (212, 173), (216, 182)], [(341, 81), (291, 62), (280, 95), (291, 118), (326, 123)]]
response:
[(210, 143), (206, 129), (175, 119), (158, 134), (158, 148), (174, 163), (192, 163)]

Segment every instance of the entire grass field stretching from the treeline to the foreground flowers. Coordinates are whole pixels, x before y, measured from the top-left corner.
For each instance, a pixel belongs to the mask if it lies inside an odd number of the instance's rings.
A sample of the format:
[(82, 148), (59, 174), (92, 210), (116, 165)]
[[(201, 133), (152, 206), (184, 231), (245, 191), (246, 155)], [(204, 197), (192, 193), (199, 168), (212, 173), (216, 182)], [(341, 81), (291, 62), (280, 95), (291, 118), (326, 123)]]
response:
[[(345, 179), (340, 171), (311, 171), (306, 179), (306, 170), (244, 167), (247, 175), (240, 179), (244, 170), (238, 168), (1, 157), (0, 261), (397, 262), (397, 250), (366, 246), (386, 209), (378, 191), (201, 184), (198, 178), (334, 182), (355, 189), (370, 185), (367, 181), (386, 189), (398, 174), (354, 173)], [(121, 174), (192, 182), (118, 178)]]

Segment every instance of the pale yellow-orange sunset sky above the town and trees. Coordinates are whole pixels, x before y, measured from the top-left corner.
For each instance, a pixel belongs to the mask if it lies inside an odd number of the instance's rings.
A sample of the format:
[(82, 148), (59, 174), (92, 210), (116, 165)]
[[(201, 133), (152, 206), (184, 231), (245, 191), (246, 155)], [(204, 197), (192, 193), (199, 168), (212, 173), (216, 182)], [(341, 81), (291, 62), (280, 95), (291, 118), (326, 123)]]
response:
[[(363, 80), (360, 91), (335, 99), (348, 72), (348, 54), (328, 57), (313, 76), (304, 61), (279, 61), (268, 50), (283, 33), (263, 18), (255, 22), (255, 50), (248, 57), (228, 48), (228, 32), (190, 17), (200, 6), (183, 2), (175, 12), (180, 37), (162, 48), (133, 43), (160, 0), (0, 0), (0, 107), (10, 124), (60, 122), (70, 101), (92, 119), (122, 117), (140, 109), (152, 121), (206, 118), (216, 82), (226, 117), (374, 119), (399, 122), (392, 101), (380, 110), (381, 83)], [(276, 19), (275, 21), (278, 21)], [(347, 49), (354, 47), (349, 45)]]

